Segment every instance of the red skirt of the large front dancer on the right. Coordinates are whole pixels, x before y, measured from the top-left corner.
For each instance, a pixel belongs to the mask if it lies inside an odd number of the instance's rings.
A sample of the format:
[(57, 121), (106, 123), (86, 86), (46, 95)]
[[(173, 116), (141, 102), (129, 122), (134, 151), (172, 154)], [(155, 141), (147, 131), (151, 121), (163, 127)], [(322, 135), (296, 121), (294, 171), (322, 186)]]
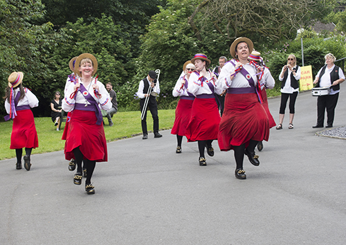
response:
[(248, 145), (250, 140), (268, 141), (268, 138), (268, 116), (257, 95), (228, 93), (218, 135), (221, 151), (229, 151), (233, 145)]

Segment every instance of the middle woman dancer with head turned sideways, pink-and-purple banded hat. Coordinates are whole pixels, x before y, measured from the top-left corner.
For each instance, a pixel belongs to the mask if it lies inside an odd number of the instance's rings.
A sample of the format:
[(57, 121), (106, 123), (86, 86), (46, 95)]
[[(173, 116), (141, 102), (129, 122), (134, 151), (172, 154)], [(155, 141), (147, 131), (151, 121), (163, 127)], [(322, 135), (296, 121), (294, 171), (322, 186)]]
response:
[(217, 140), (221, 119), (214, 93), (220, 94), (222, 89), (215, 84), (215, 75), (207, 71), (210, 60), (206, 55), (197, 53), (191, 62), (196, 66), (196, 71), (190, 75), (188, 92), (196, 98), (192, 104), (191, 118), (185, 135), (189, 142), (198, 141), (199, 165), (206, 166), (204, 148), (207, 147), (209, 156), (214, 156), (212, 140)]

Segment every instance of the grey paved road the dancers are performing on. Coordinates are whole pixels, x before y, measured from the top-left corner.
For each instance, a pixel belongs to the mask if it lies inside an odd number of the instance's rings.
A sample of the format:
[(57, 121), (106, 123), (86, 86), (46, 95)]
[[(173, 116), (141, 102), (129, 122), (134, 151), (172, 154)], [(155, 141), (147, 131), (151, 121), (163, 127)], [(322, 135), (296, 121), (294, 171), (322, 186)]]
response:
[[(345, 84), (335, 127), (346, 125)], [(269, 100), (275, 120), (279, 104)], [(287, 117), (271, 129), (261, 165), (244, 161), (246, 180), (216, 142), (207, 167), (197, 143), (175, 154), (169, 130), (109, 143), (94, 195), (73, 184), (63, 152), (33, 155), (30, 172), (0, 161), (0, 244), (345, 244), (346, 141), (314, 124), (316, 98), (300, 93), (295, 128)]]

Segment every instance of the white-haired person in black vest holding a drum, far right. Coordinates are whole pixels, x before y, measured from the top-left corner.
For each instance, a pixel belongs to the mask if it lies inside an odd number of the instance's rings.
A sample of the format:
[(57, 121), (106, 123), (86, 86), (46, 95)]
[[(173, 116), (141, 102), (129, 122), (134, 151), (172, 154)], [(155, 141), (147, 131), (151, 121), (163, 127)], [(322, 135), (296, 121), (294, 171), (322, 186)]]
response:
[(317, 98), (317, 124), (313, 126), (323, 127), (325, 121), (325, 109), (327, 109), (327, 126), (333, 127), (334, 111), (339, 98), (340, 83), (345, 81), (345, 75), (340, 67), (334, 64), (336, 57), (331, 53), (325, 55), (325, 66), (318, 71), (313, 84), (316, 87), (330, 86), (330, 92), (327, 96), (318, 96)]

